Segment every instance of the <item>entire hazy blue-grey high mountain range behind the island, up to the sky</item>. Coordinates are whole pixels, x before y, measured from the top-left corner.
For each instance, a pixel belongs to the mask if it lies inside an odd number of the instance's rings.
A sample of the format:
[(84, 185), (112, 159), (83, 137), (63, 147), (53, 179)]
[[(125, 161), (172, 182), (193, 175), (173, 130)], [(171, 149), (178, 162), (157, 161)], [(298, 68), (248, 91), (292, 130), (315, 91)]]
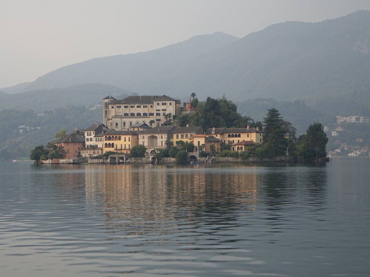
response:
[(214, 33), (91, 59), (41, 76), (26, 89), (98, 82), (182, 100), (192, 92), (200, 100), (225, 93), (230, 100), (305, 99), (322, 111), (368, 112), (369, 49), (370, 12), (361, 10), (319, 23), (279, 23), (241, 39)]

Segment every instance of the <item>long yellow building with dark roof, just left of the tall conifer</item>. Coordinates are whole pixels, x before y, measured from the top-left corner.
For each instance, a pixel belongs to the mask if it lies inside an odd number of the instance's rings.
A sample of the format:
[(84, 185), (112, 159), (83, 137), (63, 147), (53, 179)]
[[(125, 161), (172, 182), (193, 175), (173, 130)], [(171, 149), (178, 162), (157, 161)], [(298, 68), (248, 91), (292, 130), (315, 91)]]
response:
[(257, 128), (209, 128), (205, 132), (206, 136), (213, 136), (218, 138), (223, 143), (234, 144), (240, 141), (254, 141), (255, 143), (262, 143), (262, 131)]

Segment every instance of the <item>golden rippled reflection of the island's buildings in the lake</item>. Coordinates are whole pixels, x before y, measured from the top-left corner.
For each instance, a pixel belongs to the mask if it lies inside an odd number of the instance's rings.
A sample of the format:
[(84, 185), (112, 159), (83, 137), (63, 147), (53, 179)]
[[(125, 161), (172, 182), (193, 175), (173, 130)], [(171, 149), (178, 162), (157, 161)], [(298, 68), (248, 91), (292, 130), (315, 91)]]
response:
[(121, 223), (139, 227), (140, 222), (148, 221), (152, 225), (156, 221), (176, 225), (178, 218), (217, 218), (234, 210), (255, 208), (256, 168), (237, 173), (223, 167), (192, 169), (151, 164), (88, 166), (87, 201), (104, 209), (100, 212), (112, 228)]

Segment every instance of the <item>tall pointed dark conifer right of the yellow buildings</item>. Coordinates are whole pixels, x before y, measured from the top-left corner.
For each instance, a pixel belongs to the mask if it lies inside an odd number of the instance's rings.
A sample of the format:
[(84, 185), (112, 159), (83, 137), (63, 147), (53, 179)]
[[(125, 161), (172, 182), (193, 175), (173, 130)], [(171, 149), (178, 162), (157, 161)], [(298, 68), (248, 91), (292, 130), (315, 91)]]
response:
[(265, 124), (264, 147), (268, 157), (283, 155), (286, 151), (286, 138), (283, 117), (275, 108), (268, 109), (266, 117), (263, 118)]

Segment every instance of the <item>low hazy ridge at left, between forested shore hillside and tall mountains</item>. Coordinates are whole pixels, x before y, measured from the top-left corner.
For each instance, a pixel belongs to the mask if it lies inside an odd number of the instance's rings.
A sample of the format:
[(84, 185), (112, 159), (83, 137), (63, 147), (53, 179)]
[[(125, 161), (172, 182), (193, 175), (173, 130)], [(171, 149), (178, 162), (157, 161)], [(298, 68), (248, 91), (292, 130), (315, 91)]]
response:
[(111, 94), (114, 97), (125, 97), (132, 92), (102, 84), (85, 84), (68, 88), (43, 89), (31, 92), (1, 95), (2, 109), (33, 109), (35, 112), (54, 110), (67, 105), (88, 105), (102, 103), (102, 98)]

